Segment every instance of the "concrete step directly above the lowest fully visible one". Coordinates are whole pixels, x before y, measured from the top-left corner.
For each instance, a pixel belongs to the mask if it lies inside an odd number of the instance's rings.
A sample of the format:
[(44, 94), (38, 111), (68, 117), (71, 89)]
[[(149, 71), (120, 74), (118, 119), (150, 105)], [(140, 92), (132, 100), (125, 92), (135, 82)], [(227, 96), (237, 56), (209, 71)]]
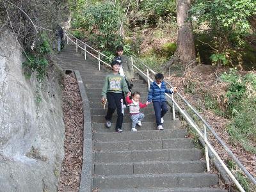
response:
[(151, 161), (140, 163), (95, 163), (95, 175), (133, 175), (163, 173), (200, 173), (205, 161)]

